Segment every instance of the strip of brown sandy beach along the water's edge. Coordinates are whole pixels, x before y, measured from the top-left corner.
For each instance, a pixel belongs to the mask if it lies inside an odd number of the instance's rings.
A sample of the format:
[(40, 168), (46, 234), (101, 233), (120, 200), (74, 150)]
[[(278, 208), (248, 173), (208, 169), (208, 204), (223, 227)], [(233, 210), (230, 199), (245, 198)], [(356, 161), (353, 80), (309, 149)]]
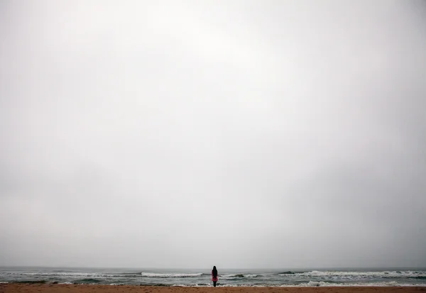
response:
[(0, 293), (426, 293), (426, 287), (151, 287), (86, 284), (0, 284)]

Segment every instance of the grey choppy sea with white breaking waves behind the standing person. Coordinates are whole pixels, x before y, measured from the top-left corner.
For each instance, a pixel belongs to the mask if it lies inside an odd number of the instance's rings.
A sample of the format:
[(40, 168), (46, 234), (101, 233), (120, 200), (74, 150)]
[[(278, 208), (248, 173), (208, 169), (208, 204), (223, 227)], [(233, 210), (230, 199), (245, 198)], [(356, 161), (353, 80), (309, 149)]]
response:
[[(426, 268), (219, 271), (224, 287), (422, 286)], [(210, 287), (212, 268), (158, 270), (82, 267), (0, 267), (1, 283), (130, 284)]]

